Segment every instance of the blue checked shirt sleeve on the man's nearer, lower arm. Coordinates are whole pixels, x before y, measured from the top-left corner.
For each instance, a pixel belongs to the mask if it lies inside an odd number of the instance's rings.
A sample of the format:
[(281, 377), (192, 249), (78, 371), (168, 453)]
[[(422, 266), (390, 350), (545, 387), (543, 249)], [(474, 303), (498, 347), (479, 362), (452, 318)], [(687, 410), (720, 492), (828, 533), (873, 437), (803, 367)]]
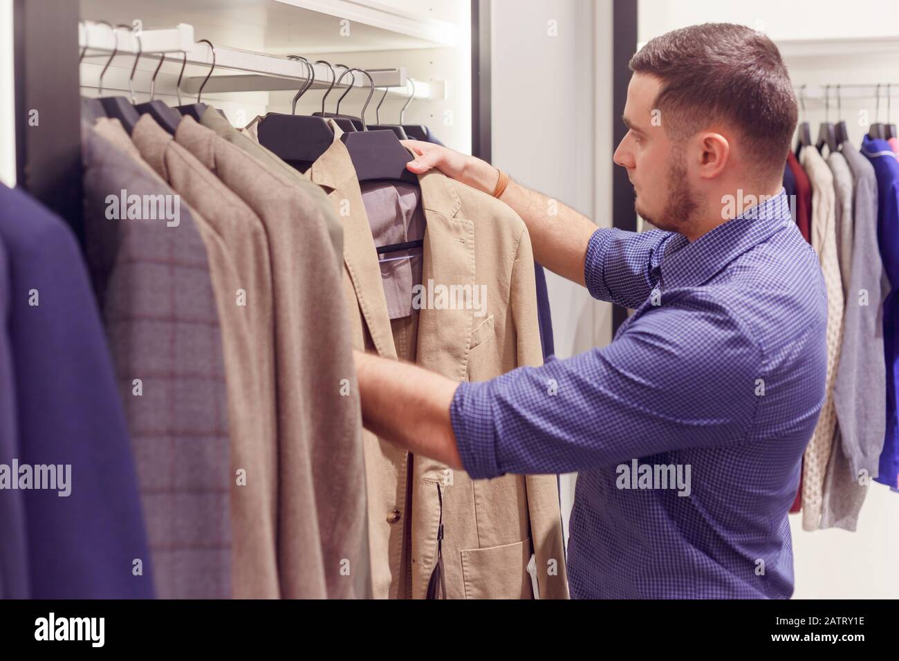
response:
[(725, 302), (697, 297), (670, 294), (601, 349), (461, 383), (450, 419), (466, 471), (563, 473), (745, 440), (761, 349)]

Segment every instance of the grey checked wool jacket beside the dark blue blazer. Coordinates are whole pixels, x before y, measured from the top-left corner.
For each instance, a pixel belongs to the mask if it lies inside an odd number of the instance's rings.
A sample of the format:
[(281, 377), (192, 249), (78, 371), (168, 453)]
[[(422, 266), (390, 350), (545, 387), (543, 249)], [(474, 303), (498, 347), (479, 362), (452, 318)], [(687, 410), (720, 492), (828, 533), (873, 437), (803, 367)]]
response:
[(102, 122), (83, 131), (85, 253), (128, 420), (156, 594), (227, 598), (230, 441), (206, 249), (184, 204), (176, 226), (109, 218), (107, 196), (173, 192), (118, 122)]

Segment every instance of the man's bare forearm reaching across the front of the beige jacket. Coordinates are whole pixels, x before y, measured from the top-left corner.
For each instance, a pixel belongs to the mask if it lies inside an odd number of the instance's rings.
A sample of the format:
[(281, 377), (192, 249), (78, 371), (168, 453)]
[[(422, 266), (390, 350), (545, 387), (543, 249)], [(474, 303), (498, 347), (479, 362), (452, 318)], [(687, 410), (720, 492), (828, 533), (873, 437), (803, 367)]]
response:
[(414, 454), (462, 469), (449, 420), (458, 383), (408, 362), (353, 354), (365, 428)]

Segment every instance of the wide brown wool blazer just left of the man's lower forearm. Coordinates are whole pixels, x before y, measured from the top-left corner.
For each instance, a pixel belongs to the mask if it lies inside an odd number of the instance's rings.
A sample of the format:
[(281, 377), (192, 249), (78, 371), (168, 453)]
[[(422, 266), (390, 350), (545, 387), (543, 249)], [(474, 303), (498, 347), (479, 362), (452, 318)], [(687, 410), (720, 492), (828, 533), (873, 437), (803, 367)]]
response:
[(285, 598), (370, 596), (359, 388), (324, 210), (184, 117), (175, 141), (262, 219), (271, 256), (278, 403), (278, 572)]

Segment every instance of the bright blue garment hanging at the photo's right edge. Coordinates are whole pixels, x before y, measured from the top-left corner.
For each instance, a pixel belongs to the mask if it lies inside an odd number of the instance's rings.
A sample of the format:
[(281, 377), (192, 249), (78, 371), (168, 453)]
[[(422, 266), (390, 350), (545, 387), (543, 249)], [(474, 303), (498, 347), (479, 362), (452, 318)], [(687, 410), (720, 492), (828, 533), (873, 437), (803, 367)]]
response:
[[(877, 175), (877, 245), (891, 290), (884, 300), (884, 356), (886, 358), (886, 437), (877, 467), (877, 482), (899, 490), (899, 163), (890, 144), (862, 138), (861, 153)], [(871, 255), (876, 258), (877, 255)]]

